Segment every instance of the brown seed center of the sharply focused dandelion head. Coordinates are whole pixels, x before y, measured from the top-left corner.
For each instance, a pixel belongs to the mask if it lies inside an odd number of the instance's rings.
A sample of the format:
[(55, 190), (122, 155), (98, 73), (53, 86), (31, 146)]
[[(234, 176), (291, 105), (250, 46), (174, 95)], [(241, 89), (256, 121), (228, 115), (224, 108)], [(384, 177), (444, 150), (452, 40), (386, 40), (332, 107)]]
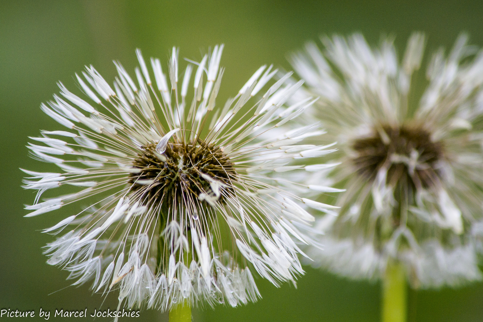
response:
[[(145, 203), (180, 201), (186, 197), (197, 198), (201, 193), (213, 195), (213, 191), (202, 175), (222, 182), (226, 193), (232, 191), (236, 172), (229, 158), (214, 145), (204, 143), (169, 143), (166, 151), (159, 155), (156, 145), (143, 146), (143, 151), (133, 162), (141, 172), (130, 175), (132, 190), (141, 190)], [(153, 183), (140, 184), (146, 180)], [(220, 200), (223, 196), (220, 197)]]

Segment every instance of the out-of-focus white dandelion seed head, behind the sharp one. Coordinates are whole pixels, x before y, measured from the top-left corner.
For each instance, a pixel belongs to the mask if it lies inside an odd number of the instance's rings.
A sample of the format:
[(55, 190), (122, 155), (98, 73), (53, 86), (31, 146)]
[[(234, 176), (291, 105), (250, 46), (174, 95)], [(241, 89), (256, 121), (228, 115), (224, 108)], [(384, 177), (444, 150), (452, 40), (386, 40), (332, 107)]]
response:
[[(447, 55), (437, 51), (418, 98), (421, 33), (411, 36), (401, 62), (391, 39), (377, 48), (360, 34), (322, 42), (323, 51), (309, 43), (292, 56), (307, 82), (294, 98), (320, 96), (306, 118), (327, 129), (318, 143), (338, 141), (332, 161), (340, 165), (321, 168), (308, 183), (347, 192), (337, 197), (338, 216), (317, 220), (325, 235), (318, 238), (322, 249), (308, 251), (313, 265), (379, 279), (396, 260), (412, 287), (481, 280), (482, 52), (465, 35)], [(311, 190), (329, 200), (323, 189)]]

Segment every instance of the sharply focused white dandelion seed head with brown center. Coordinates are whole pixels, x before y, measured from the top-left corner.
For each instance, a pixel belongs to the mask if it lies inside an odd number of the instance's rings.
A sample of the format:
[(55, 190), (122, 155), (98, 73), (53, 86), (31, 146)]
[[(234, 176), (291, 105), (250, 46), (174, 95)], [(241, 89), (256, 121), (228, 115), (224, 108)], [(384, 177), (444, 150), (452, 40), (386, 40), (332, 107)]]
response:
[[(95, 292), (118, 289), (119, 306), (129, 308), (170, 310), (199, 302), (234, 307), (260, 297), (249, 266), (277, 286), (303, 274), (298, 243), (309, 241), (304, 229), (313, 217), (286, 189), (294, 184), (280, 184), (274, 174), (292, 170), (286, 165), (295, 157), (302, 164), (320, 154), (304, 155), (306, 150), (325, 148), (296, 145), (312, 128), (270, 140), (259, 135), (292, 120), (313, 99), (284, 114), (284, 103), (301, 83), (285, 86), (282, 80), (249, 107), (277, 72), (263, 66), (218, 108), (222, 51), (223, 45), (215, 46), (197, 63), (194, 80), (191, 64), (180, 77), (178, 49), (169, 60), (169, 81), (160, 61), (151, 58), (153, 84), (137, 50), (137, 82), (119, 62), (114, 86), (92, 66), (76, 74), (96, 107), (61, 83), (60, 95), (42, 104), (70, 131), (31, 138), (32, 156), (60, 170), (23, 170), (30, 176), (24, 188), (37, 190), (26, 216), (93, 200), (43, 230), (58, 234), (72, 227), (44, 252), (48, 264), (70, 272), (72, 285), (90, 280)], [(62, 185), (82, 190), (39, 202), (46, 190)]]

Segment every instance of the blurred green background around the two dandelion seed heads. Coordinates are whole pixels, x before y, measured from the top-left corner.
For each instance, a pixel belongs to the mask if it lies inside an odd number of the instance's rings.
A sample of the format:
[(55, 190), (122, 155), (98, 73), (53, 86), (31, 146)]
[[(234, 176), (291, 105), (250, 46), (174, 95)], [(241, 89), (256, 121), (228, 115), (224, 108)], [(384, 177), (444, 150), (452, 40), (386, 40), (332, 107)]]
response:
[[(91, 295), (88, 285), (69, 287), (67, 273), (45, 264), (41, 247), (53, 238), (40, 233), (66, 213), (23, 218), (33, 195), (20, 188), (18, 170), (53, 170), (28, 158), (27, 136), (60, 127), (39, 109), (61, 80), (93, 64), (108, 81), (113, 59), (128, 70), (135, 48), (166, 66), (170, 48), (194, 60), (214, 44), (226, 44), (220, 100), (235, 93), (262, 64), (289, 69), (286, 56), (322, 34), (361, 31), (376, 44), (381, 34), (396, 36), (399, 53), (412, 30), (428, 35), (428, 50), (450, 47), (461, 31), (483, 45), (483, 5), (475, 1), (6, 1), (0, 2), (0, 308), (36, 311), (56, 308), (115, 308), (117, 299)], [(194, 309), (194, 321), (378, 321), (380, 285), (353, 282), (307, 268), (298, 289), (275, 288), (257, 280), (263, 299), (241, 308)], [(48, 295), (50, 294), (50, 295)], [(101, 303), (104, 300), (104, 303)], [(483, 283), (440, 292), (410, 292), (411, 321), (483, 321)], [(5, 318), (5, 316), (2, 319)], [(13, 318), (21, 321), (21, 318)], [(74, 319), (74, 318), (71, 318)], [(148, 310), (120, 321), (167, 321)], [(58, 319), (60, 320), (60, 319)], [(65, 320), (62, 319), (62, 320)], [(76, 320), (76, 319), (74, 319)], [(92, 320), (92, 318), (84, 319)], [(109, 321), (100, 318), (97, 321)]]

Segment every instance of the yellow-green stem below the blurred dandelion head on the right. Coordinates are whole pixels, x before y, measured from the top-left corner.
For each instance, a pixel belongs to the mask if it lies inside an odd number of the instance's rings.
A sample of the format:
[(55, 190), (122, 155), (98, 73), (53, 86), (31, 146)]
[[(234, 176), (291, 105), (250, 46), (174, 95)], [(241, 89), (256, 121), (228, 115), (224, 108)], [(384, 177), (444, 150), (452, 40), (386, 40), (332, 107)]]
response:
[(388, 263), (383, 282), (383, 322), (406, 322), (406, 275), (401, 263)]

